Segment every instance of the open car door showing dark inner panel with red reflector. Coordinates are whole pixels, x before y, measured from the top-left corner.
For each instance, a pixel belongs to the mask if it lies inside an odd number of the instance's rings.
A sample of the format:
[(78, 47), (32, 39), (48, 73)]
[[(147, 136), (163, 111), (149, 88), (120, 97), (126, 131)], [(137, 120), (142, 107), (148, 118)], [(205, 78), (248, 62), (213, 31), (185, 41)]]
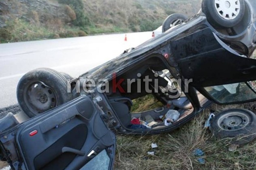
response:
[[(7, 140), (15, 136), (17, 159)], [(115, 135), (92, 100), (79, 97), (1, 135), (14, 169), (111, 170)], [(10, 143), (10, 142), (9, 142)], [(8, 153), (5, 152), (5, 153)]]

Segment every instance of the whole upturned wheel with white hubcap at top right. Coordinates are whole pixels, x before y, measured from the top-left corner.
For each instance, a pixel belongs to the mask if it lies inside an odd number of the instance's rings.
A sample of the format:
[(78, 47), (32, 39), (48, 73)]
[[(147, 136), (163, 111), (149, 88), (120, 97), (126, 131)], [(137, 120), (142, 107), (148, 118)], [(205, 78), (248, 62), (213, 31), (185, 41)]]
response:
[(202, 11), (212, 26), (232, 28), (242, 21), (245, 2), (244, 0), (203, 0)]

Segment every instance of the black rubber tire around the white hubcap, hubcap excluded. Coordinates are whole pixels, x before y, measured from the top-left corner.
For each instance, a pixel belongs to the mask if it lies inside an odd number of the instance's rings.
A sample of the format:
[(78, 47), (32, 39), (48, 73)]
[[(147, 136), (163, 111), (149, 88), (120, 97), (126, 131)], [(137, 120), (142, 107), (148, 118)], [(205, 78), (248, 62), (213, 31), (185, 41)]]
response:
[[(245, 2), (244, 0), (238, 0), (240, 2), (240, 11), (237, 14), (237, 17), (234, 19), (224, 19), (224, 16), (221, 17), (221, 13), (223, 11), (220, 11), (220, 14), (218, 13), (217, 9), (215, 8), (215, 0), (203, 0), (202, 2), (202, 11), (205, 13), (208, 22), (216, 28), (232, 28), (239, 24), (245, 14)], [(238, 10), (237, 8), (235, 9)], [(225, 13), (223, 13), (224, 15)], [(234, 13), (232, 13), (234, 14)], [(229, 17), (229, 15), (226, 15), (226, 17)]]

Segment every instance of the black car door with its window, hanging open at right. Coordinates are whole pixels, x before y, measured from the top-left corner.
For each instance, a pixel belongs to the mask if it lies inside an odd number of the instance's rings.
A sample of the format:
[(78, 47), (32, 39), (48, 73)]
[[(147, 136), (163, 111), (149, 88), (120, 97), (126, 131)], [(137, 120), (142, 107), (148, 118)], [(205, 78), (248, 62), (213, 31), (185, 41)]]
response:
[(183, 79), (192, 79), (190, 85), (208, 99), (218, 104), (256, 100), (256, 60), (239, 55), (210, 28), (174, 41), (171, 49)]

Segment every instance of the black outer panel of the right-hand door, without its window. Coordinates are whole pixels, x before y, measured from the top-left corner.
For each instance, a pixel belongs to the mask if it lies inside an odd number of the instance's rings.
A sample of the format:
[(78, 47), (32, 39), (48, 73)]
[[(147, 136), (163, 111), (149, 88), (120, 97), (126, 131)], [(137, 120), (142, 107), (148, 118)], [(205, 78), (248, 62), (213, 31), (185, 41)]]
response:
[(194, 87), (256, 80), (256, 60), (238, 55), (206, 28), (171, 44), (181, 75)]

